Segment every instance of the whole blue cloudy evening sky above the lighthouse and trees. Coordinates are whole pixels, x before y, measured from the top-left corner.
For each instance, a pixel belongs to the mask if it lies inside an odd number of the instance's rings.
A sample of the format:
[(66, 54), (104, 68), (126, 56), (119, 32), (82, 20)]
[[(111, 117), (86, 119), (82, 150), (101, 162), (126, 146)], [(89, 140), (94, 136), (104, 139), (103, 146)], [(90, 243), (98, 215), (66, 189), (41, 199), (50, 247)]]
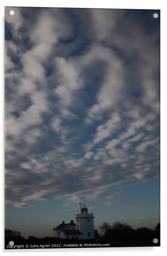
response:
[(6, 11), (5, 226), (52, 236), (82, 202), (96, 229), (103, 221), (154, 228), (160, 11)]

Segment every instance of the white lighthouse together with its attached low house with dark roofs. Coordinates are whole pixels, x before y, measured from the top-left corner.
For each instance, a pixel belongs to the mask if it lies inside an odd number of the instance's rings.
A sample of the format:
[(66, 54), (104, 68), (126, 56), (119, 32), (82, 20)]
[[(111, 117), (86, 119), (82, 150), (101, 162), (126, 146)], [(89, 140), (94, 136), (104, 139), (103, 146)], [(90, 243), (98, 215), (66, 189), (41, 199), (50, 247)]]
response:
[[(81, 205), (81, 204), (80, 204)], [(54, 237), (64, 239), (95, 239), (93, 213), (88, 213), (88, 208), (83, 204), (81, 213), (76, 214), (76, 224), (64, 221), (53, 229)]]

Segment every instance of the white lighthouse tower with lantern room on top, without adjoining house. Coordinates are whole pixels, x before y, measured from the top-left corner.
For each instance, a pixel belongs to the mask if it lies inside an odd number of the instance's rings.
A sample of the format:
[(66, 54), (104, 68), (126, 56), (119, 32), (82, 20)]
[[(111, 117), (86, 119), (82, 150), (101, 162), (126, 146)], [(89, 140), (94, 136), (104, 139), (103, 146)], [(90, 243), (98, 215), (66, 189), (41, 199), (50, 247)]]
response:
[(93, 213), (88, 213), (88, 208), (83, 204), (81, 213), (76, 214), (76, 229), (83, 233), (82, 239), (95, 239)]

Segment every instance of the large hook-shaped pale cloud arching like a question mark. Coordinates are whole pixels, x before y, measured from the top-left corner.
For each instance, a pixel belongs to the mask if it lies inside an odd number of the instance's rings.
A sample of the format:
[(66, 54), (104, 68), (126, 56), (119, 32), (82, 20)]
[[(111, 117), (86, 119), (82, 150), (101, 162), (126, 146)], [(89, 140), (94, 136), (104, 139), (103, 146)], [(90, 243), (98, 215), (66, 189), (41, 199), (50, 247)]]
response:
[(79, 58), (78, 62), (81, 68), (95, 60), (106, 63), (106, 72), (103, 84), (96, 95), (96, 104), (91, 106), (88, 111), (87, 123), (88, 120), (99, 119), (104, 111), (112, 108), (120, 100), (120, 90), (123, 87), (123, 63), (112, 49), (94, 44), (87, 54)]

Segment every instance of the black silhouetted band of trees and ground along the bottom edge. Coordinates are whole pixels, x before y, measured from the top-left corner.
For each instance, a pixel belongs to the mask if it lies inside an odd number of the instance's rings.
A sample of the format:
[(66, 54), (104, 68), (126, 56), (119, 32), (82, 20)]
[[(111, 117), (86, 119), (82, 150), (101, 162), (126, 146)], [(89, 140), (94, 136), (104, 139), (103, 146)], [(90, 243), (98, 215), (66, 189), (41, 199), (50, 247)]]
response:
[[(155, 229), (147, 227), (140, 227), (133, 229), (126, 222), (114, 222), (112, 225), (108, 222), (103, 222), (99, 226), (98, 233), (100, 237), (95, 238), (94, 241), (84, 241), (87, 243), (98, 242), (110, 244), (110, 247), (132, 247), (132, 246), (160, 246), (160, 223), (157, 224)], [(158, 239), (156, 244), (153, 243), (154, 239)], [(25, 239), (20, 231), (5, 229), (5, 246), (9, 241), (14, 241), (15, 244), (69, 244), (75, 242), (76, 244), (83, 243), (83, 240), (76, 239), (60, 239), (54, 237), (37, 238), (29, 236)]]

